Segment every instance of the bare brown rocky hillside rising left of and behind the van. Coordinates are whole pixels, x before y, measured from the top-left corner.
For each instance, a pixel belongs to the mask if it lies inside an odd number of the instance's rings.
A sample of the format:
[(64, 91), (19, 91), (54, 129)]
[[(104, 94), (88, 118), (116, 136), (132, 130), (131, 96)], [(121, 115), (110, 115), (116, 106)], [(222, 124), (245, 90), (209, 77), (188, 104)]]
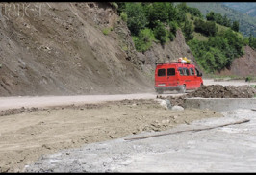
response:
[(1, 7), (0, 96), (148, 92), (155, 62), (193, 59), (180, 31), (165, 48), (136, 52), (109, 3)]

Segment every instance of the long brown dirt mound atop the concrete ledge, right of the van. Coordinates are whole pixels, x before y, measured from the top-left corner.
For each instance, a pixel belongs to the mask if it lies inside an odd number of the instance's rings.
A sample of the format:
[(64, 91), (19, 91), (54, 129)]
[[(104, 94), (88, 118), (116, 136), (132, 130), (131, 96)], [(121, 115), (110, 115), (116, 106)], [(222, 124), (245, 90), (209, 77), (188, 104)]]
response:
[(195, 91), (187, 94), (187, 97), (202, 98), (253, 98), (256, 89), (249, 86), (221, 86), (211, 85), (199, 87)]

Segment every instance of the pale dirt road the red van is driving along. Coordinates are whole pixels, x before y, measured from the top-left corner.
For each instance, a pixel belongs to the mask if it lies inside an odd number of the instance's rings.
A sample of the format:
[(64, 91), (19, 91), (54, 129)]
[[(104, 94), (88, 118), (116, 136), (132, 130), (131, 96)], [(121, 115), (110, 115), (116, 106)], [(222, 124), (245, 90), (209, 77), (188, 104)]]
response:
[[(218, 81), (213, 79), (204, 79), (204, 85), (223, 85), (223, 86), (243, 86), (256, 85), (256, 82), (247, 83), (244, 81)], [(180, 96), (182, 94), (166, 92), (162, 96)], [(116, 95), (77, 95), (77, 96), (20, 96), (20, 97), (0, 97), (0, 110), (32, 107), (54, 107), (64, 105), (81, 105), (85, 103), (99, 103), (105, 101), (118, 101), (124, 99), (155, 99), (156, 93), (138, 93), (138, 94), (116, 94)]]

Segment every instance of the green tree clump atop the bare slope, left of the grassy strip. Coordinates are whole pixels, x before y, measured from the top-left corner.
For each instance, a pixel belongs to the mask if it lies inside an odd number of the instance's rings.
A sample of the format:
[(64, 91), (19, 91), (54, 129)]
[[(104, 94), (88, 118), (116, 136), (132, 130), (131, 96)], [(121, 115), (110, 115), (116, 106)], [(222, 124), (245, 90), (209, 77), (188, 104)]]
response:
[(175, 7), (172, 3), (125, 3), (117, 2), (117, 12), (127, 22), (127, 26), (133, 36), (136, 49), (146, 51), (152, 45), (152, 41), (162, 45), (168, 40), (173, 40), (178, 28), (182, 28), (188, 39), (192, 39), (192, 24), (184, 24), (186, 12), (195, 16), (202, 16), (195, 8), (185, 5)]

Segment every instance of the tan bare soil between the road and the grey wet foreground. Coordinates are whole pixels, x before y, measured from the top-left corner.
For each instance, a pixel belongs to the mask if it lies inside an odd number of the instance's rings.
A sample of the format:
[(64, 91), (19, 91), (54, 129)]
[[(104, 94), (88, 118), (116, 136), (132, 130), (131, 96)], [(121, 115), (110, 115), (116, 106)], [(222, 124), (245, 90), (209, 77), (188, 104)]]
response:
[(222, 116), (195, 109), (170, 111), (155, 100), (22, 110), (0, 117), (0, 172), (22, 172), (41, 155), (62, 149)]

